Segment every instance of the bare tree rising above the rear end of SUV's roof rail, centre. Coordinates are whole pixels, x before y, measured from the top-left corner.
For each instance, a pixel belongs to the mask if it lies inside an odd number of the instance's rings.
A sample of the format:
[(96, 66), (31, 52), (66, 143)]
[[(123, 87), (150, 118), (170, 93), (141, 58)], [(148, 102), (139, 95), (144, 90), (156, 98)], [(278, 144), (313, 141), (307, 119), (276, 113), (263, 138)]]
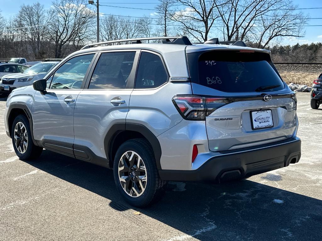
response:
[(217, 3), (216, 0), (176, 0), (177, 4), (185, 7), (184, 10), (177, 8), (177, 11), (171, 10), (171, 19), (179, 22), (199, 42), (207, 41), (210, 30), (216, 19), (220, 15), (216, 11), (216, 6), (224, 4)]

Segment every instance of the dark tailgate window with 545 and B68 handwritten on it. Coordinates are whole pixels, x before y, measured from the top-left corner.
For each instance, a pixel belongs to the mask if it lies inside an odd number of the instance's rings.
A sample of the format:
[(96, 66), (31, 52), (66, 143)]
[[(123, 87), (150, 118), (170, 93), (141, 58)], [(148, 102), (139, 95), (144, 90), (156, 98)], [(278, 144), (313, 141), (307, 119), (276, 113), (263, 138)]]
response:
[(223, 92), (269, 92), (284, 89), (265, 53), (209, 51), (198, 60), (199, 84)]

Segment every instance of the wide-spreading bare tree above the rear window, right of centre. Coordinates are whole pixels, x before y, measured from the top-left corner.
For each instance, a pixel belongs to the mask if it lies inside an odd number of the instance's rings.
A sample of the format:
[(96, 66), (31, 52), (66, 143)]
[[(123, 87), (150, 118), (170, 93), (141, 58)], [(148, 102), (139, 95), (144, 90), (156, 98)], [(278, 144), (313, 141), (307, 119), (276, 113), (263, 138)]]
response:
[(224, 40), (255, 40), (267, 44), (280, 36), (301, 36), (303, 13), (295, 13), (289, 0), (229, 0), (216, 4)]

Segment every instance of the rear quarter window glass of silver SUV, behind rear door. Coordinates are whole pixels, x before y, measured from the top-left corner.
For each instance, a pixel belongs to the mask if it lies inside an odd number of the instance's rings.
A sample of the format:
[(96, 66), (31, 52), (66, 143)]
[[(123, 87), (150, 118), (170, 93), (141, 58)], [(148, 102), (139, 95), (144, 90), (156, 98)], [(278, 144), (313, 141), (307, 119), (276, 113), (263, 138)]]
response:
[(137, 67), (136, 89), (156, 88), (168, 80), (161, 58), (149, 52), (142, 52)]

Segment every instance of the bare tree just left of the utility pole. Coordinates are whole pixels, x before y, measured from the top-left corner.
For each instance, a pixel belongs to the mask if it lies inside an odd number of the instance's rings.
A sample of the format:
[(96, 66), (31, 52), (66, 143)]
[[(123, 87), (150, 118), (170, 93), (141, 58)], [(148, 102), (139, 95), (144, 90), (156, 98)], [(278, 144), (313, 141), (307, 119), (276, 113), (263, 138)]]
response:
[(55, 58), (64, 56), (70, 44), (84, 45), (93, 36), (95, 13), (86, 7), (85, 0), (55, 0), (50, 14), (49, 35)]

